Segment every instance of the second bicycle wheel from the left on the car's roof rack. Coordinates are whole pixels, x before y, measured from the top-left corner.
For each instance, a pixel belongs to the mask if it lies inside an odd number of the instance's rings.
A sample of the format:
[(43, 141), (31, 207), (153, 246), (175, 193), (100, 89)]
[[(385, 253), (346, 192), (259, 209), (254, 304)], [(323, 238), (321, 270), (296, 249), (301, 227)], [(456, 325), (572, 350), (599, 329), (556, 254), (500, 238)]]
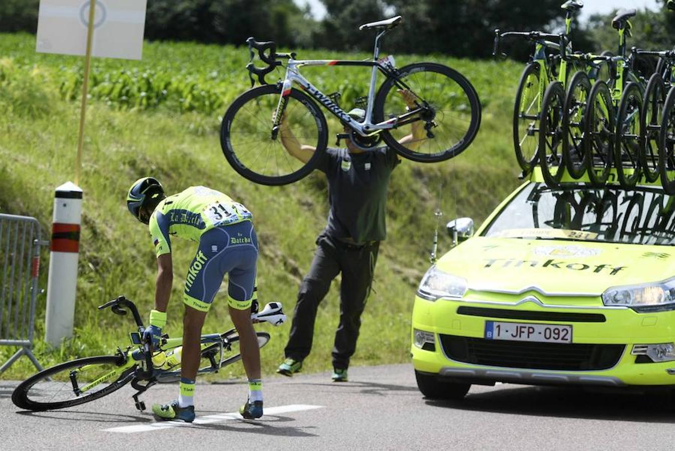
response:
[(539, 122), (539, 165), (541, 175), (548, 186), (558, 186), (562, 178), (565, 162), (562, 153), (562, 140), (565, 136), (563, 110), (565, 90), (562, 83), (549, 84), (541, 103), (541, 121)]

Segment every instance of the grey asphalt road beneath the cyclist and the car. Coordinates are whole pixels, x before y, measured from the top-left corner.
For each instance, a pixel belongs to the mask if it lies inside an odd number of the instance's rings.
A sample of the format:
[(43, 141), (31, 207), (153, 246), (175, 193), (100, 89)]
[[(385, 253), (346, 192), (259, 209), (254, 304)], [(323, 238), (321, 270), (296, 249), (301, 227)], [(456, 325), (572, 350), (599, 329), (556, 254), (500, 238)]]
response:
[[(16, 383), (0, 381), (0, 450), (670, 450), (675, 413), (655, 394), (568, 388), (473, 386), (462, 402), (426, 400), (411, 365), (265, 379), (265, 416), (234, 411), (239, 382), (198, 385), (198, 421), (156, 423), (123, 388), (89, 404), (44, 413), (18, 411)], [(144, 399), (166, 402), (177, 386)]]

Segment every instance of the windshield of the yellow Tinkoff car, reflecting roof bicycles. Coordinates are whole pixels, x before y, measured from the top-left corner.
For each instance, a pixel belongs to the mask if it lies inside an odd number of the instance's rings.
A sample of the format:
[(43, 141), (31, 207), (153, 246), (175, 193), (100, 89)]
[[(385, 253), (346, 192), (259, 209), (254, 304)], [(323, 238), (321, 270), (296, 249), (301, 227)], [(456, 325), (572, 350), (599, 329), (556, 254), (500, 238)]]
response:
[(483, 236), (675, 244), (675, 196), (656, 188), (523, 188)]

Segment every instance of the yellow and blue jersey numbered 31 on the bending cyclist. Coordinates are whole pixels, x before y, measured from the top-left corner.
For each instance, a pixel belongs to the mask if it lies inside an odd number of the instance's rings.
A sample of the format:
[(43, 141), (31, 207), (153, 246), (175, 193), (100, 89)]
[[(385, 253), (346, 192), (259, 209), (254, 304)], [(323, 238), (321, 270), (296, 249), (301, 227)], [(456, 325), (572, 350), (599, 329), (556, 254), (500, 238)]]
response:
[(165, 198), (150, 217), (157, 257), (171, 252), (171, 236), (199, 242), (202, 234), (221, 225), (250, 221), (244, 205), (206, 186), (190, 186)]

